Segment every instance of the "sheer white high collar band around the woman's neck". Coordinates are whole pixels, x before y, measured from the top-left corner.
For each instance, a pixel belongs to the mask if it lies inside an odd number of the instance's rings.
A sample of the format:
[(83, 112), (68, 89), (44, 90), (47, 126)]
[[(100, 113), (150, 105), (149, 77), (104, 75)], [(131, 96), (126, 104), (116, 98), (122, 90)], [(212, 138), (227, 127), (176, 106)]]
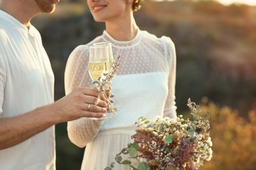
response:
[(131, 46), (135, 46), (136, 44), (138, 44), (140, 42), (141, 37), (142, 37), (142, 35), (141, 35), (140, 29), (138, 29), (137, 35), (135, 36), (135, 38), (130, 41), (117, 41), (106, 30), (103, 31), (103, 39), (105, 41), (111, 42), (112, 46), (118, 46), (119, 48), (120, 47), (127, 48), (127, 47), (131, 47)]

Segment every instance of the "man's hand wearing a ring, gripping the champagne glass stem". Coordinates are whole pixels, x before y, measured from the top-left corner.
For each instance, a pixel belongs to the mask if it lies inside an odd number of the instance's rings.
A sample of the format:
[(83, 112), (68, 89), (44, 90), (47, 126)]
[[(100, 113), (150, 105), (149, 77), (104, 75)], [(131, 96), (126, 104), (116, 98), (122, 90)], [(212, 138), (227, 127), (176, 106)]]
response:
[[(67, 122), (81, 117), (102, 118), (108, 105), (103, 95), (98, 99), (99, 93), (95, 88), (75, 88), (71, 93), (53, 103), (51, 112), (60, 119), (58, 122)], [(97, 105), (95, 105), (96, 102)]]

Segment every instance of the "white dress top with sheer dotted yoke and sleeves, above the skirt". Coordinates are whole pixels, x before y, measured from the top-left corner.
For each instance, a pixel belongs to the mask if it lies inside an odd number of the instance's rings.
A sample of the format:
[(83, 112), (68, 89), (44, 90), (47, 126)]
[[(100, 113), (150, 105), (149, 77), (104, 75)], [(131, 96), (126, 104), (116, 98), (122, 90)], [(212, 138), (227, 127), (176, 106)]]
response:
[(121, 54), (119, 71), (114, 77), (112, 93), (119, 110), (110, 120), (81, 118), (68, 122), (70, 140), (83, 147), (98, 133), (133, 134), (140, 116), (176, 117), (175, 46), (169, 37), (157, 38), (146, 31), (131, 41), (116, 41), (106, 31), (89, 44), (80, 45), (70, 54), (65, 72), (65, 90), (77, 86), (93, 87), (88, 73), (89, 46), (95, 42), (112, 42), (114, 59)]

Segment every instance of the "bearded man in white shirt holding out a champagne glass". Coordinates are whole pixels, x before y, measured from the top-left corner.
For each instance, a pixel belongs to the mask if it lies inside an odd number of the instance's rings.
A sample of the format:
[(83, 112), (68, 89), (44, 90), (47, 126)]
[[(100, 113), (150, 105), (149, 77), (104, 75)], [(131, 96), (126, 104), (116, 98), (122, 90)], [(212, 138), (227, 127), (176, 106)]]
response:
[(53, 71), (30, 20), (56, 3), (0, 1), (0, 169), (55, 169), (54, 124), (106, 113), (104, 99), (94, 105), (98, 92), (91, 88), (53, 102)]

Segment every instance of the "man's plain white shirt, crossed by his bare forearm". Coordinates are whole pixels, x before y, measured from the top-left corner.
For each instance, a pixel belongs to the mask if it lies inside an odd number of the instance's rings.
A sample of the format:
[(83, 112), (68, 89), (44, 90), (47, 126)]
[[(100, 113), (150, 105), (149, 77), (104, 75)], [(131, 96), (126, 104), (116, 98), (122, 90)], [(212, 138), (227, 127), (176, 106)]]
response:
[[(53, 94), (53, 70), (39, 32), (0, 10), (1, 118), (53, 103)], [(55, 169), (54, 126), (0, 150), (0, 169)]]

